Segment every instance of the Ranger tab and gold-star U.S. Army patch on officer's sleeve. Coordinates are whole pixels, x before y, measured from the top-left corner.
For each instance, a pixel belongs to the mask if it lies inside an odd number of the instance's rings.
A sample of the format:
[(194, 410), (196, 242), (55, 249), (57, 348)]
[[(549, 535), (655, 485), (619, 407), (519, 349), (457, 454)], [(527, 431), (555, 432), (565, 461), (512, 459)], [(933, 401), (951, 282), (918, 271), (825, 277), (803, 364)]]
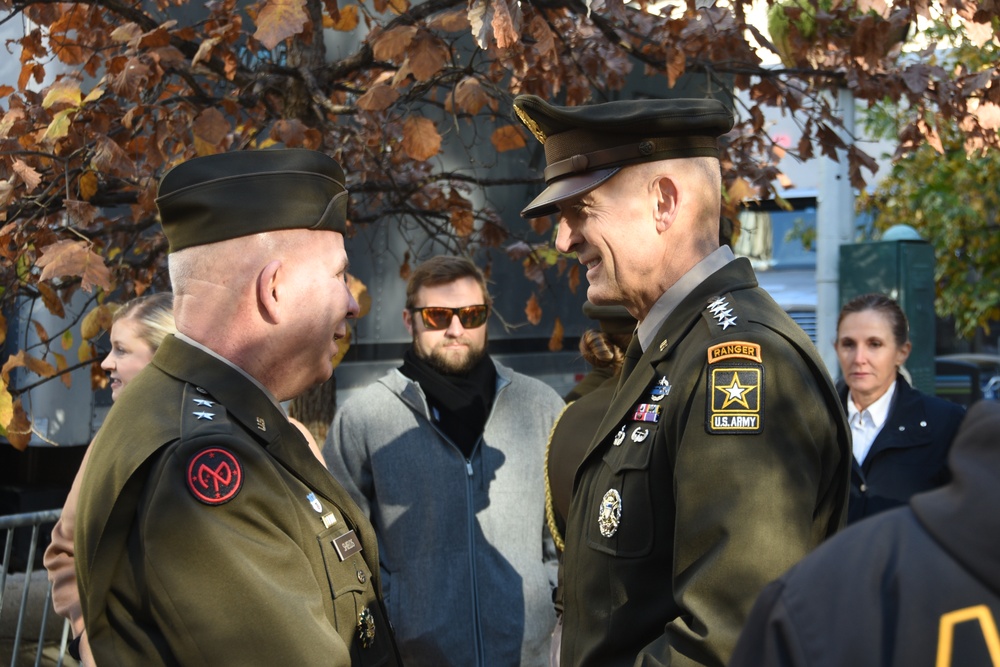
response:
[(753, 434), (763, 430), (764, 363), (760, 345), (727, 341), (708, 348), (705, 430)]

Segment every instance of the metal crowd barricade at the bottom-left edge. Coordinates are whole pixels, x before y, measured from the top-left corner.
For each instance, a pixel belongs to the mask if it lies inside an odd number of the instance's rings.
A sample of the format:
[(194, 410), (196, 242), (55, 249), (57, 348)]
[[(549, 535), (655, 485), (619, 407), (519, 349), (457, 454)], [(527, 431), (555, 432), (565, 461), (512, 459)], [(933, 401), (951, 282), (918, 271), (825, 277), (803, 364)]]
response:
[[(21, 648), (21, 641), (24, 639), (24, 634), (27, 629), (26, 621), (30, 611), (29, 607), (32, 602), (31, 598), (29, 598), (31, 575), (32, 571), (35, 569), (34, 565), (38, 550), (39, 536), (41, 534), (41, 527), (44, 524), (56, 521), (60, 514), (62, 514), (62, 509), (0, 516), (0, 530), (6, 529), (7, 537), (4, 544), (2, 570), (0, 570), (0, 614), (3, 613), (4, 605), (7, 602), (7, 580), (13, 561), (14, 531), (19, 528), (31, 529), (31, 542), (28, 545), (28, 558), (24, 571), (24, 589), (21, 591), (20, 606), (17, 607), (17, 625), (14, 630), (13, 646), (11, 647), (11, 667), (18, 667), (20, 664), (19, 660), (22, 659), (19, 656), (19, 652)], [(45, 594), (45, 604), (41, 610), (41, 623), (39, 624), (38, 630), (38, 644), (35, 649), (35, 667), (39, 667), (42, 664), (42, 654), (46, 646), (46, 626), (50, 612), (55, 613), (52, 611), (52, 584), (46, 579), (45, 585), (47, 586), (47, 591)], [(67, 620), (63, 623), (62, 638), (59, 643), (57, 662), (59, 667), (63, 664), (63, 659), (66, 655), (66, 646), (69, 641), (69, 629), (69, 621)]]

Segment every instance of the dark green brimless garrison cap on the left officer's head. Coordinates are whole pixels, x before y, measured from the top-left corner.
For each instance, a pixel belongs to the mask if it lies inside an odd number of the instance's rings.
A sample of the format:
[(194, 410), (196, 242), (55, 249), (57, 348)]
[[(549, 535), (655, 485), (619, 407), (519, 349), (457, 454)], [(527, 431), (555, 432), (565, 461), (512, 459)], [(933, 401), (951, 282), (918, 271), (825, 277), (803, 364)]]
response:
[(182, 162), (156, 197), (168, 252), (280, 229), (340, 232), (347, 188), (336, 160), (304, 148), (234, 151)]

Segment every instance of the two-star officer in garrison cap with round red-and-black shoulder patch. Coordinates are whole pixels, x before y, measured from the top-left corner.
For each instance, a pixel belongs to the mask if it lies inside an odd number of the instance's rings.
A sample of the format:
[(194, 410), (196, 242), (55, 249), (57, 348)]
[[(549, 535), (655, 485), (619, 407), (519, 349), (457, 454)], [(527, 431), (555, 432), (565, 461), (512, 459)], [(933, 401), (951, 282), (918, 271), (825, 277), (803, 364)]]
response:
[(77, 576), (96, 663), (397, 665), (374, 532), (279, 404), (358, 312), (344, 173), (307, 150), (160, 183), (177, 335), (91, 445)]

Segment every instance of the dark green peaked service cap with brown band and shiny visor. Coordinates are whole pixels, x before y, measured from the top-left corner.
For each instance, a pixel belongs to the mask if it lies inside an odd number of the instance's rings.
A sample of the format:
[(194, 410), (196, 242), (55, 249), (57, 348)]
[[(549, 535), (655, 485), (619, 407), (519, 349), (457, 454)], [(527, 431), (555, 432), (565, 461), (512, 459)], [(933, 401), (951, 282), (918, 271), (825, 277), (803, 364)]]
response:
[(548, 187), (521, 211), (525, 218), (556, 213), (556, 204), (593, 190), (629, 164), (718, 157), (718, 137), (733, 127), (732, 112), (714, 99), (561, 107), (518, 95), (514, 111), (545, 146), (547, 165)]

